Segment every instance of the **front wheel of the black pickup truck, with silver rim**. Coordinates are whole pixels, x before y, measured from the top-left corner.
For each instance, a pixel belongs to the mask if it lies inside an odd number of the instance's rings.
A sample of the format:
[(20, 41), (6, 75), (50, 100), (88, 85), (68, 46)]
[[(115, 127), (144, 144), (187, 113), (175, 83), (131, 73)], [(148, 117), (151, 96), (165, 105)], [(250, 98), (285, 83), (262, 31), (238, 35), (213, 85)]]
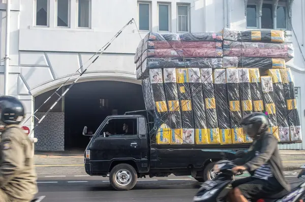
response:
[[(121, 177), (129, 176), (130, 180), (124, 185), (123, 181), (120, 183), (121, 179), (118, 179), (117, 176), (119, 173), (123, 172)], [(132, 189), (137, 183), (138, 175), (134, 167), (127, 163), (117, 164), (110, 171), (109, 181), (111, 186), (118, 191), (127, 191)]]

